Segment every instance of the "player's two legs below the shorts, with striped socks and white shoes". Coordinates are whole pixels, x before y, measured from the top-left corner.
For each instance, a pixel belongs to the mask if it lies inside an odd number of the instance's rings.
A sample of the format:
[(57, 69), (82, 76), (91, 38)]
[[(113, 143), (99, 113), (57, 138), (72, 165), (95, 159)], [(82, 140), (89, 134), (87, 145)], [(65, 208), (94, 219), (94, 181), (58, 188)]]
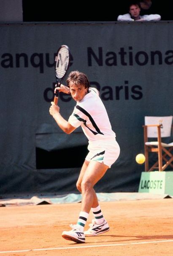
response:
[[(94, 185), (100, 178), (103, 177), (107, 171), (108, 166), (97, 161), (88, 162), (85, 160), (81, 173), (77, 181), (77, 188), (82, 193), (82, 206), (79, 214), (78, 222), (76, 225), (72, 225), (71, 231), (63, 231), (62, 237), (68, 240), (72, 240), (77, 243), (85, 242), (86, 236), (96, 236), (97, 234), (102, 234), (109, 230), (108, 223), (103, 218), (101, 210), (99, 211), (100, 217), (103, 219), (103, 223), (97, 224), (94, 220), (91, 227), (84, 234), (84, 225), (87, 222), (89, 211), (92, 209), (97, 209), (99, 206), (97, 195), (93, 189)], [(99, 208), (100, 209), (100, 208)], [(99, 218), (100, 218), (99, 217)], [(97, 218), (97, 217), (96, 217)]]

